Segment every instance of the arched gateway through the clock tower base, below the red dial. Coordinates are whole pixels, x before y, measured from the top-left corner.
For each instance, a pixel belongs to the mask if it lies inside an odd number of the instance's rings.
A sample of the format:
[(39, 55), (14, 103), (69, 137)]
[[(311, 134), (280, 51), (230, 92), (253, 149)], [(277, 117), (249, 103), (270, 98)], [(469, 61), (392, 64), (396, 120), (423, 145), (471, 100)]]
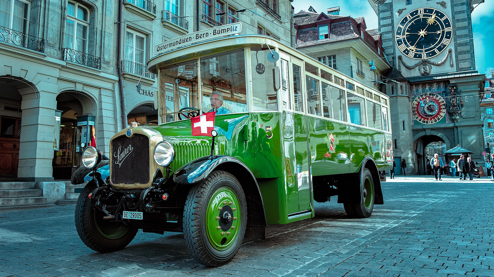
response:
[[(435, 132), (436, 133), (436, 132)], [(449, 149), (450, 142), (442, 134), (425, 135), (415, 139), (415, 153), (417, 174), (427, 174), (427, 165), (434, 153), (438, 153), (440, 156), (444, 151)], [(444, 157), (443, 162), (446, 163)]]

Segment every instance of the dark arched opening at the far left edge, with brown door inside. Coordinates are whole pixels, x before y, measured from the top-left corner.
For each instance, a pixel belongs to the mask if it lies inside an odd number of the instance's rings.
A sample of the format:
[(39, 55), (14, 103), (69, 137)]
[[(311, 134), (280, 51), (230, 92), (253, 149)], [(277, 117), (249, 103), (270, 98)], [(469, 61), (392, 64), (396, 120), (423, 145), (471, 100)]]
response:
[(22, 96), (17, 87), (0, 79), (0, 177), (17, 177), (21, 103)]

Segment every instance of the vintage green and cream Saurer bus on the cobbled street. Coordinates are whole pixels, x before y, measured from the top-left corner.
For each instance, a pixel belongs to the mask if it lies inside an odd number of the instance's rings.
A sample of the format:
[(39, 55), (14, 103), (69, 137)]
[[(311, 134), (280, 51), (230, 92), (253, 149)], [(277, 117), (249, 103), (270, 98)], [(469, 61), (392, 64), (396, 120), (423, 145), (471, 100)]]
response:
[[(338, 196), (351, 217), (383, 204), (388, 97), (272, 37), (224, 36), (229, 26), (157, 46), (160, 124), (117, 133), (109, 160), (84, 150), (72, 181), (88, 181), (76, 226), (91, 249), (183, 232), (199, 262), (220, 266), (267, 224), (314, 217), (314, 201)], [(190, 119), (212, 109), (214, 143)]]

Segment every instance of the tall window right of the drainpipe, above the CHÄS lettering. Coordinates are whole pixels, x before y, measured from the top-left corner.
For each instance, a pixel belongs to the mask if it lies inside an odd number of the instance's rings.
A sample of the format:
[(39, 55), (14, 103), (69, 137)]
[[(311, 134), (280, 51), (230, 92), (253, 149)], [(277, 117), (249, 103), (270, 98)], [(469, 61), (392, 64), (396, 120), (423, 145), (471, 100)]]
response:
[[(130, 72), (142, 75), (146, 59), (146, 36), (127, 30), (125, 32), (124, 60), (134, 64)], [(141, 72), (142, 71), (142, 72)]]

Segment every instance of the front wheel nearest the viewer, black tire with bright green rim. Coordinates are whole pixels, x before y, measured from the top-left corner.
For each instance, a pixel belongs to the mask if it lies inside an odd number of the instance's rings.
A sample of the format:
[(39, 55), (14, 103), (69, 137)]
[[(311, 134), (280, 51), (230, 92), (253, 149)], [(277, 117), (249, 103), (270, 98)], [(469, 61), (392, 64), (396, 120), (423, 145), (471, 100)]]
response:
[(244, 239), (247, 204), (244, 190), (231, 173), (214, 171), (194, 185), (185, 202), (183, 232), (187, 248), (200, 263), (228, 263)]

